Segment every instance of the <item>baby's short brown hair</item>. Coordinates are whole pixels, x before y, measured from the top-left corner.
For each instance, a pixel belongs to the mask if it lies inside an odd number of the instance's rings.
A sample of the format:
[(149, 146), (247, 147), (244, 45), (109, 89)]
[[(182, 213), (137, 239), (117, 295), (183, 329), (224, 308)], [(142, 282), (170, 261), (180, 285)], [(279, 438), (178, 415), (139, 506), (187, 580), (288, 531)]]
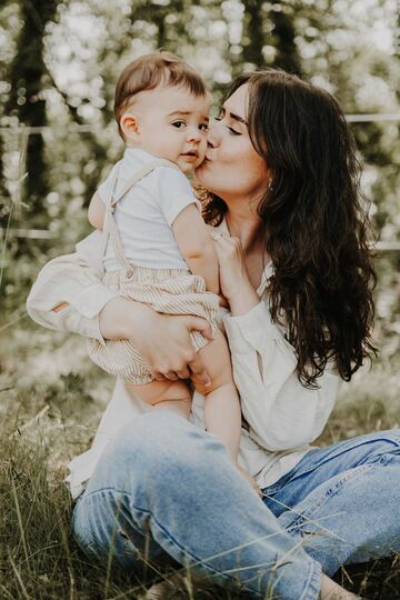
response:
[(122, 139), (120, 120), (129, 101), (137, 93), (152, 90), (160, 83), (186, 88), (193, 96), (207, 94), (206, 83), (200, 74), (171, 52), (152, 52), (133, 60), (123, 69), (116, 87), (113, 111)]

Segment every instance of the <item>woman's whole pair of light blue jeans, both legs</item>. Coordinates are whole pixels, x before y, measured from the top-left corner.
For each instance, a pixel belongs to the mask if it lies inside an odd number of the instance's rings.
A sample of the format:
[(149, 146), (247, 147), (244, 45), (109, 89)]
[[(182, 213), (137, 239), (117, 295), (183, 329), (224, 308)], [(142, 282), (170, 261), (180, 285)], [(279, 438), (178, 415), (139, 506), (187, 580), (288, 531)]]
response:
[(367, 436), (309, 452), (261, 501), (216, 438), (154, 411), (107, 447), (72, 527), (88, 556), (141, 577), (178, 563), (253, 598), (311, 600), (321, 566), (399, 548), (399, 476), (400, 433)]

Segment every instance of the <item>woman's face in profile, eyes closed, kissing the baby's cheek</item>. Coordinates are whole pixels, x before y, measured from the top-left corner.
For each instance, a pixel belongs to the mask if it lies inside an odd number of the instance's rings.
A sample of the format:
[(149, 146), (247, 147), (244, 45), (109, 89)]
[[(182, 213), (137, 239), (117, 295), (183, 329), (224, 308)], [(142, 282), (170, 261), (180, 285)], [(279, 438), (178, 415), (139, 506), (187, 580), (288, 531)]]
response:
[(209, 131), (206, 160), (194, 171), (199, 183), (228, 203), (261, 198), (269, 180), (266, 162), (250, 141), (247, 113), (244, 83), (224, 102)]

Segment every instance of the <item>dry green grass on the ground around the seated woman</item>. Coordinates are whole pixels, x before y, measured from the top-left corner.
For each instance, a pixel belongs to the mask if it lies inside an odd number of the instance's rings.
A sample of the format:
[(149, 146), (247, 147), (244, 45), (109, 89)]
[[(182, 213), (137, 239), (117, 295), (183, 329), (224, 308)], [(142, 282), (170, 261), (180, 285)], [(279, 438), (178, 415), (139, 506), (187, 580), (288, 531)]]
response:
[[(4, 332), (3, 332), (4, 333)], [(393, 360), (343, 387), (321, 443), (399, 427), (400, 382)], [(140, 582), (84, 558), (70, 534), (64, 464), (90, 443), (112, 378), (86, 358), (77, 337), (9, 328), (0, 349), (0, 598), (140, 598)], [(342, 569), (336, 579), (368, 599), (400, 598), (398, 557)], [(183, 598), (200, 598), (182, 590)], [(201, 598), (233, 598), (212, 588)]]

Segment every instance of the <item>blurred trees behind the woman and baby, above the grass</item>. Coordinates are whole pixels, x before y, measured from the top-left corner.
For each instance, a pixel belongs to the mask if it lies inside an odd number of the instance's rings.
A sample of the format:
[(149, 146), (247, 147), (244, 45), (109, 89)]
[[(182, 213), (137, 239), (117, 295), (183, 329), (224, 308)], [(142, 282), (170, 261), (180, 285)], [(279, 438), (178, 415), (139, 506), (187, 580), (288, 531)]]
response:
[[(3, 0), (2, 303), (22, 307), (40, 264), (88, 232), (84, 209), (122, 150), (112, 96), (130, 60), (157, 48), (178, 53), (207, 79), (216, 106), (241, 70), (273, 66), (328, 89), (350, 116), (399, 113), (399, 19), (396, 0)], [(352, 124), (388, 241), (400, 237), (399, 127)], [(377, 258), (390, 352), (399, 350), (399, 266), (400, 252)]]

